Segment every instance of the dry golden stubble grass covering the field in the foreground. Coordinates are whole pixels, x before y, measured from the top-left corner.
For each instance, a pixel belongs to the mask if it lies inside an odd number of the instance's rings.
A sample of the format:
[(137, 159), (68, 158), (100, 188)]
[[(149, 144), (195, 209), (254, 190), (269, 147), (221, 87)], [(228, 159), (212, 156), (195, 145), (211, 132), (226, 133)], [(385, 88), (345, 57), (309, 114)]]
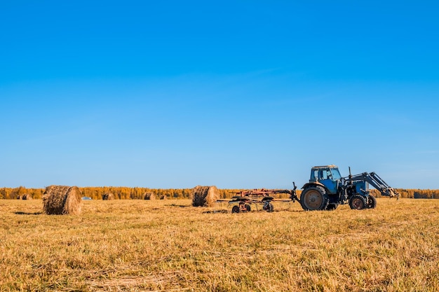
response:
[(224, 210), (92, 200), (47, 216), (0, 200), (0, 291), (439, 291), (439, 200)]

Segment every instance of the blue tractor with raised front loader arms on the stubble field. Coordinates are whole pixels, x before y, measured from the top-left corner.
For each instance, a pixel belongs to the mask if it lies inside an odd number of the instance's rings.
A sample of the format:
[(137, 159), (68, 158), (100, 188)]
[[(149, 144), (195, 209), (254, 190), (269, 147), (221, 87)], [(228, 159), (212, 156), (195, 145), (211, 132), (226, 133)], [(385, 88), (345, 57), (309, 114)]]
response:
[(351, 175), (349, 167), (349, 176), (342, 177), (337, 166), (325, 165), (311, 168), (309, 183), (302, 187), (300, 204), (306, 211), (332, 210), (346, 203), (351, 209), (374, 208), (377, 199), (370, 194), (369, 184), (381, 195), (399, 197), (398, 192), (374, 172)]

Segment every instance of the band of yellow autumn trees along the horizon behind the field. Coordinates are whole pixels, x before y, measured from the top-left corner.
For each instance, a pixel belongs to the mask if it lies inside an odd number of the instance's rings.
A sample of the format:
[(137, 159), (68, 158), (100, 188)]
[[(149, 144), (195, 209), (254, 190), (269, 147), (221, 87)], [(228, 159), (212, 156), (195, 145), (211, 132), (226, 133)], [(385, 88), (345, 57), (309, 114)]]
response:
[[(121, 186), (100, 186), (79, 188), (83, 197), (90, 197), (93, 200), (102, 200), (102, 196), (112, 193), (116, 200), (144, 200), (145, 197), (153, 194), (156, 199), (190, 199), (192, 188), (129, 188)], [(0, 188), (0, 199), (17, 199), (23, 195), (30, 195), (33, 199), (41, 199), (45, 188)], [(397, 188), (400, 197), (412, 199), (439, 199), (439, 190), (403, 189)], [(239, 193), (241, 189), (219, 189), (219, 198), (229, 199)], [(301, 190), (297, 190), (300, 195)], [(375, 197), (381, 197), (378, 190), (371, 189), (370, 193)], [(283, 194), (282, 197), (288, 197)]]

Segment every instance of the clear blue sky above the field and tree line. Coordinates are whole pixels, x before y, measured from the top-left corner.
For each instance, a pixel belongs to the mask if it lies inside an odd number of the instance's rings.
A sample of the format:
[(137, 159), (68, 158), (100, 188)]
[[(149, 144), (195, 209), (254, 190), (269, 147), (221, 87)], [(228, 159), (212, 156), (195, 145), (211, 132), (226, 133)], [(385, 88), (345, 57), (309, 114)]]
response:
[(0, 187), (439, 188), (438, 1), (4, 1)]

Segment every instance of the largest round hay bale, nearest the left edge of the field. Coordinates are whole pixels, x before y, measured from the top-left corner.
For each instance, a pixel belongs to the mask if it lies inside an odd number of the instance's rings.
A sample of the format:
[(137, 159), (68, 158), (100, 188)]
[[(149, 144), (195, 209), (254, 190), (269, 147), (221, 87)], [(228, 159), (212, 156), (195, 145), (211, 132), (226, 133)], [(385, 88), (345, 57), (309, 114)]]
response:
[(76, 186), (48, 186), (43, 194), (43, 210), (48, 215), (81, 213), (81, 191)]

